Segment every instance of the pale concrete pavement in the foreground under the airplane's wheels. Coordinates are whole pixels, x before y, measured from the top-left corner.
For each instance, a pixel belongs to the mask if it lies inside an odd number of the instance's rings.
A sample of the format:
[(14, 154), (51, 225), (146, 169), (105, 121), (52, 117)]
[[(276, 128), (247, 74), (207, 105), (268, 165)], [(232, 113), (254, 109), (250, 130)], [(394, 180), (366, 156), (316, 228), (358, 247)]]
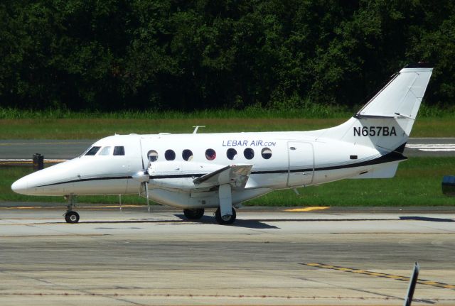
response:
[(0, 305), (455, 305), (455, 209), (0, 203)]

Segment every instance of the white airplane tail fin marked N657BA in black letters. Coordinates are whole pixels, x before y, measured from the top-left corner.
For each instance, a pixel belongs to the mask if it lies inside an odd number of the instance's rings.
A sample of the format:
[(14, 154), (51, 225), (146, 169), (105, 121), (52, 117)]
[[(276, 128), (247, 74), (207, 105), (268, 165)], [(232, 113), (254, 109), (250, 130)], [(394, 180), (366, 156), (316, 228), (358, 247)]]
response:
[(432, 70), (426, 64), (404, 67), (350, 120), (321, 136), (397, 151), (410, 136)]

